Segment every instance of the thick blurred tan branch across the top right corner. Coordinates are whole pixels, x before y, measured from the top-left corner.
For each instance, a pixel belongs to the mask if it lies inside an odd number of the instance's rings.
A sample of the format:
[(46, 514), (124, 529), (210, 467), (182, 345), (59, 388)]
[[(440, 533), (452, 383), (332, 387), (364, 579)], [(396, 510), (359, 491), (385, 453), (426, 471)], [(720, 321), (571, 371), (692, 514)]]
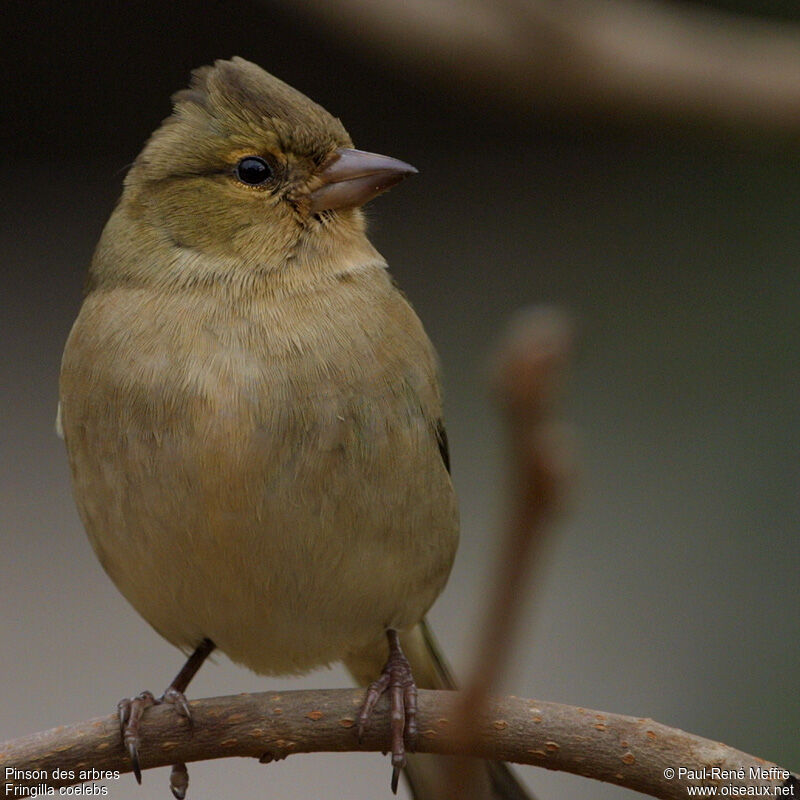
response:
[(473, 100), (800, 131), (796, 24), (659, 0), (267, 1)]

